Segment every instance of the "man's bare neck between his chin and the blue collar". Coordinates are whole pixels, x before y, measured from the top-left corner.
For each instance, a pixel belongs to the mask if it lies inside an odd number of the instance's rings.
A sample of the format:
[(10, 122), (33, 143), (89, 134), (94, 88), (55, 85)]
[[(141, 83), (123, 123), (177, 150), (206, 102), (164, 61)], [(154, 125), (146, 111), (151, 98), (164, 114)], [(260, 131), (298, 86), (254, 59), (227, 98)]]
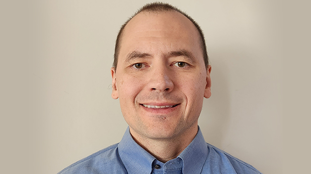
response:
[(177, 158), (177, 156), (191, 143), (198, 132), (198, 126), (186, 130), (181, 135), (170, 138), (148, 138), (132, 131), (133, 139), (146, 151), (162, 163)]

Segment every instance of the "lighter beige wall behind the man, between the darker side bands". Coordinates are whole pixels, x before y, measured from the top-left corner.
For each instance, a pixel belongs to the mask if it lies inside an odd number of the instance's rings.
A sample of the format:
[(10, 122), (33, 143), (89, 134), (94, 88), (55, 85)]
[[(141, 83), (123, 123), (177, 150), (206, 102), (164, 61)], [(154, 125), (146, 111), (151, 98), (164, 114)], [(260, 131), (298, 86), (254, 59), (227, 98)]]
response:
[[(262, 0), (164, 0), (202, 27), (212, 97), (199, 125), (205, 140), (264, 174), (281, 174), (282, 87), (278, 4)], [(111, 94), (117, 32), (150, 0), (35, 3), (30, 70), (35, 98), (32, 174), (55, 174), (121, 140), (127, 124)]]

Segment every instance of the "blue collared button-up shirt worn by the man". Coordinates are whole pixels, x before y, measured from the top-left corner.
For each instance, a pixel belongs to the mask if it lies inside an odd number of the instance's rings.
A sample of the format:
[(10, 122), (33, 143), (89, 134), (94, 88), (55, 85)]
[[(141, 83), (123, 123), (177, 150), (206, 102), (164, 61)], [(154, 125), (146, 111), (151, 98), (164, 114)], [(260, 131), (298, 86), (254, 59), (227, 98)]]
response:
[(102, 149), (58, 174), (261, 174), (251, 165), (205, 142), (199, 128), (180, 155), (162, 163), (132, 138)]

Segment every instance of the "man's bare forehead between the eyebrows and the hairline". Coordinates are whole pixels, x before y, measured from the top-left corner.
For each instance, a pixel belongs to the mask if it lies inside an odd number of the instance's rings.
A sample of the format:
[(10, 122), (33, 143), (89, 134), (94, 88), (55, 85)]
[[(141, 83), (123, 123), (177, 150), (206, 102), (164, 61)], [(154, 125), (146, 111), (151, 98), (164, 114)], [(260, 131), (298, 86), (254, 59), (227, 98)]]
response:
[(137, 49), (199, 49), (198, 52), (202, 53), (196, 27), (187, 17), (176, 11), (141, 12), (133, 17), (124, 28), (119, 55)]

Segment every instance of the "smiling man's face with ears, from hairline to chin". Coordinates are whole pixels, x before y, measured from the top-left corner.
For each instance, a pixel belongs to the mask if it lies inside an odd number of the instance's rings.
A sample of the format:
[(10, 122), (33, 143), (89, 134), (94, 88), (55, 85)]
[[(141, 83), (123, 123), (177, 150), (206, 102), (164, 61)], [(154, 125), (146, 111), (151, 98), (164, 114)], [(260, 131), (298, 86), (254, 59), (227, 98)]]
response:
[(112, 97), (132, 135), (173, 138), (197, 129), (211, 68), (192, 22), (178, 12), (142, 12), (125, 27), (120, 46)]

